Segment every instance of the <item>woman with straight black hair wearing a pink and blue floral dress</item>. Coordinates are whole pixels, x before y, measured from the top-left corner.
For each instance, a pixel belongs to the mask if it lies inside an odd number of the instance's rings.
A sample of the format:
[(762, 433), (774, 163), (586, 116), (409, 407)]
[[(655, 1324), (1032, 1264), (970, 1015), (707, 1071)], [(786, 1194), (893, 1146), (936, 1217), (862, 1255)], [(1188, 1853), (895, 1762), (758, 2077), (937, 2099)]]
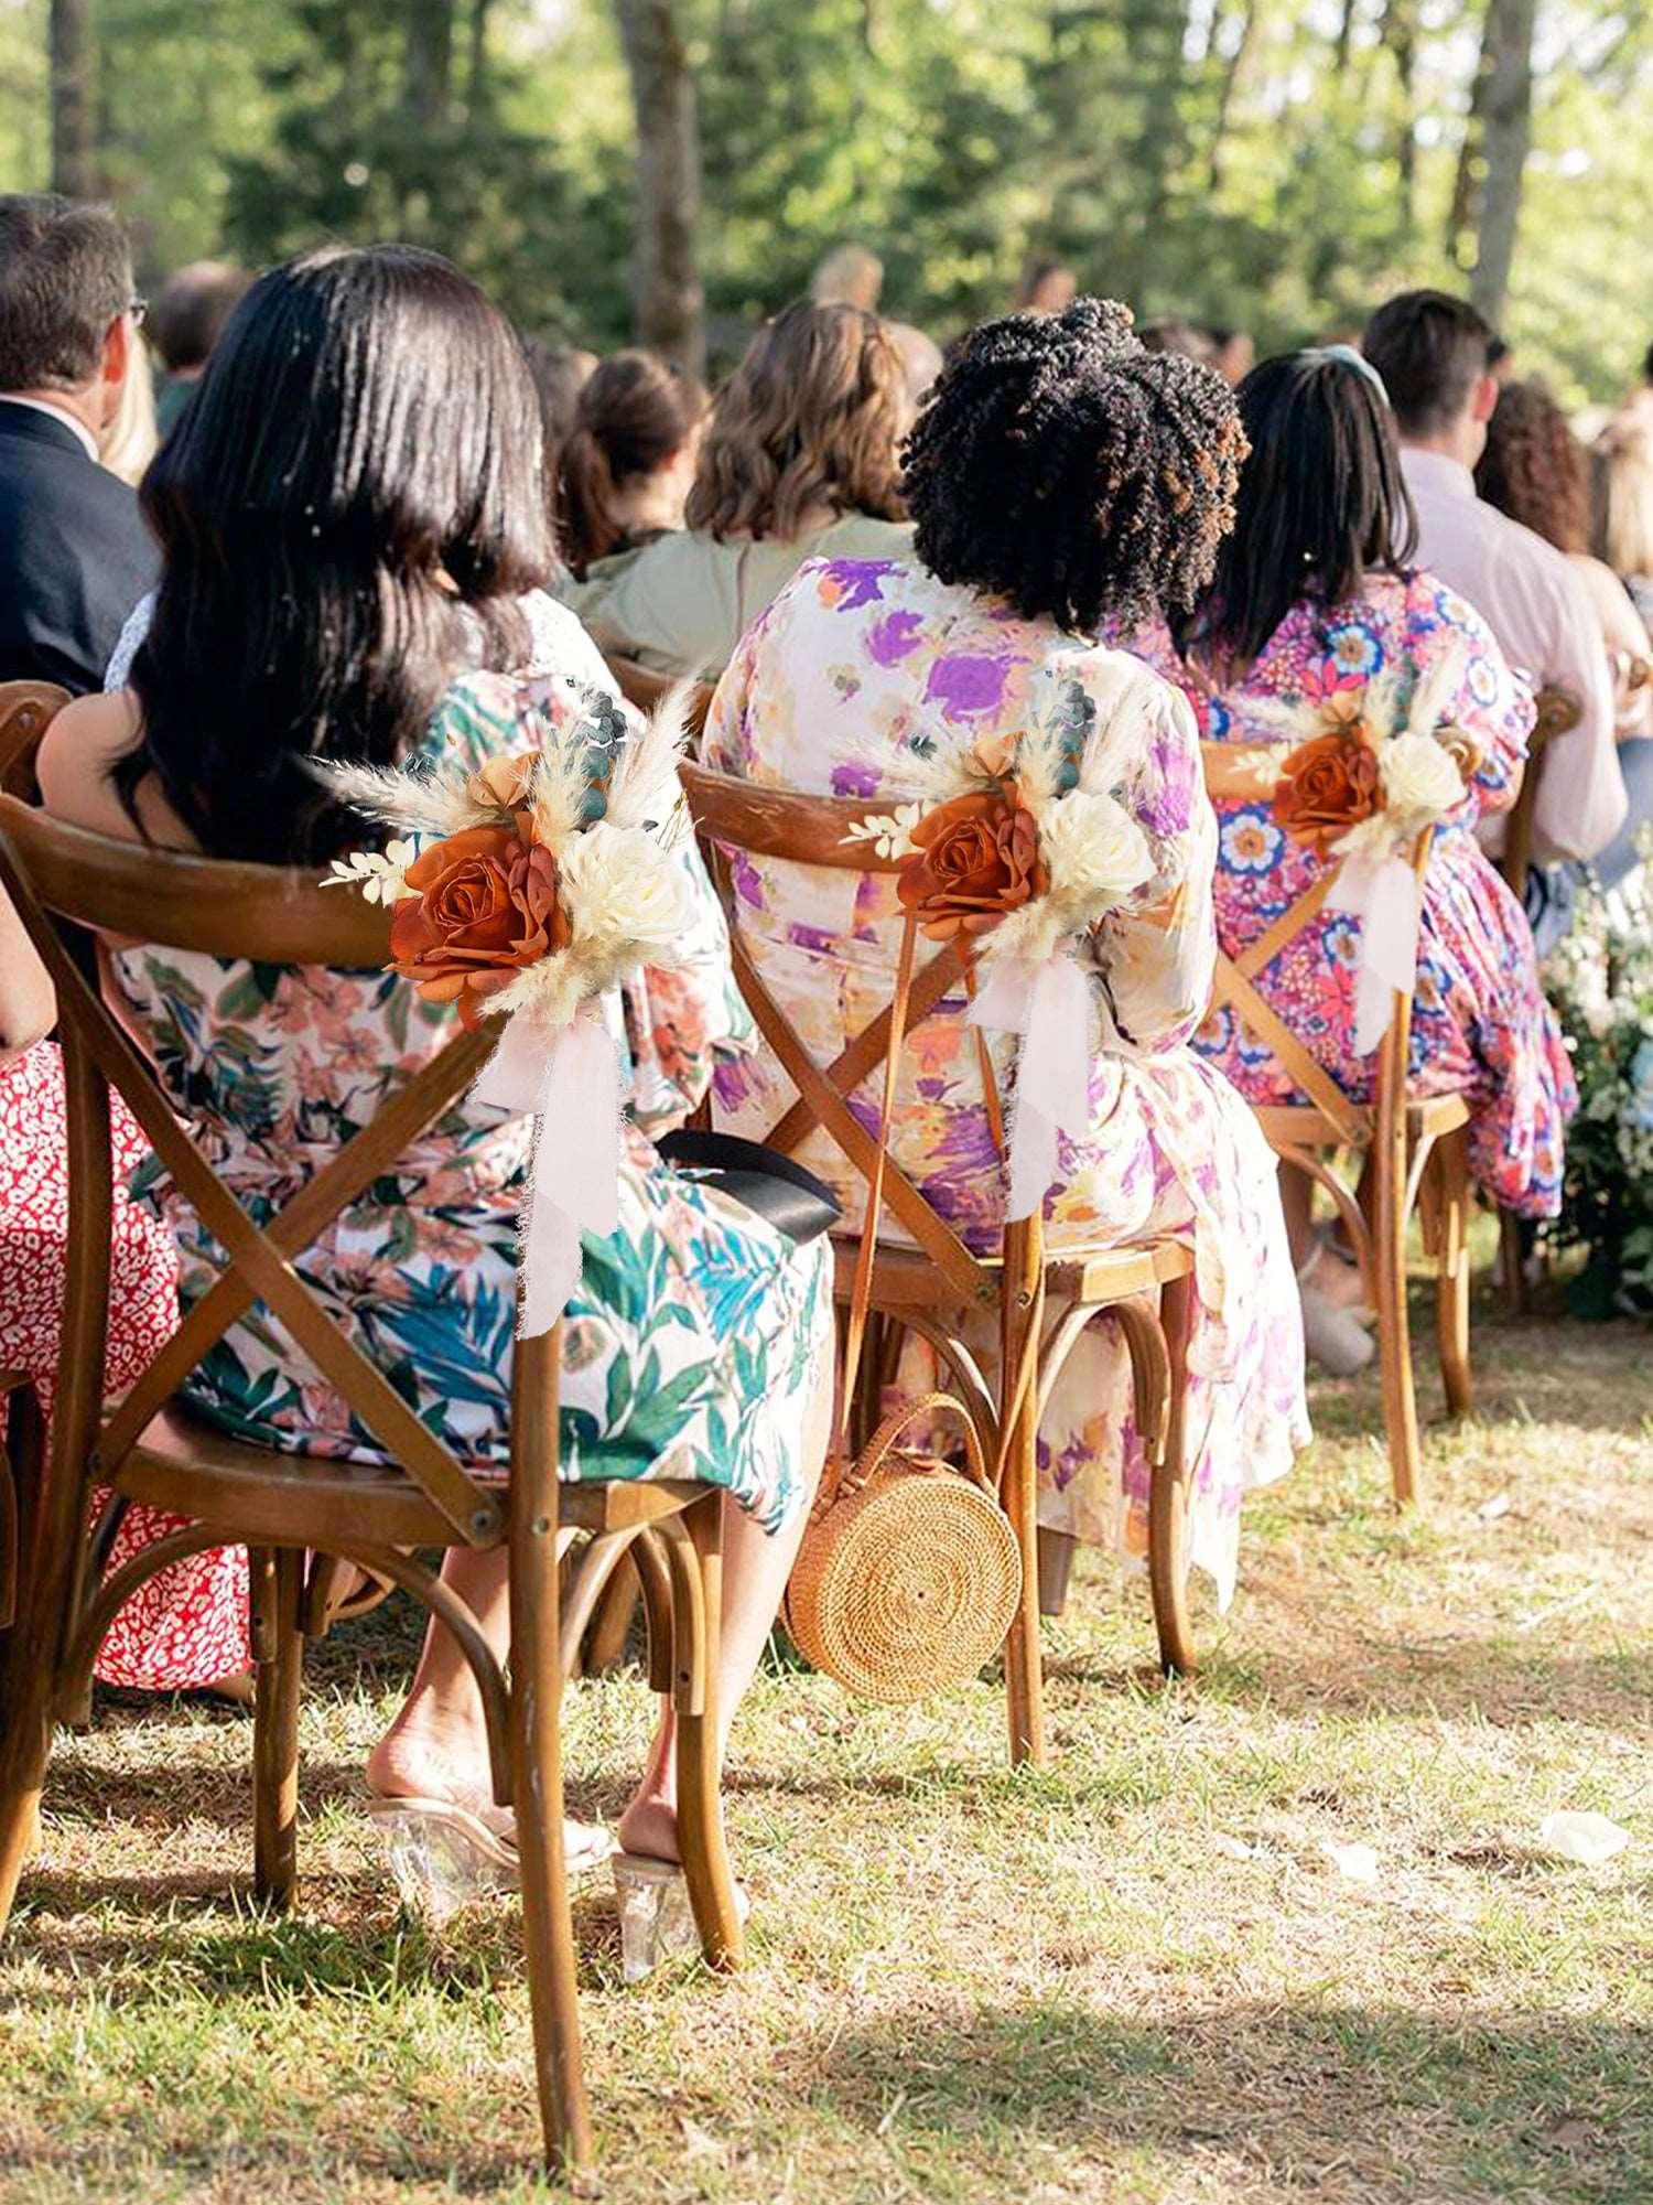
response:
[[(1199, 600), (1131, 635), (1131, 648), (1179, 681), (1212, 743), (1314, 734), (1353, 710), (1375, 675), (1404, 692), (1459, 655), (1450, 714), (1479, 752), (1470, 792), (1435, 836), (1424, 884), (1413, 1080), (1463, 1089), (1474, 1111), (1470, 1160), (1505, 1208), (1549, 1217), (1560, 1202), (1563, 1127), (1574, 1085), (1538, 988), (1532, 933), (1474, 840), (1474, 822), (1514, 800), (1532, 697), (1479, 613), (1413, 567), (1417, 527), (1382, 384), (1344, 346), (1267, 359), (1239, 388), (1250, 456), (1234, 529)], [(1281, 706), (1300, 708), (1300, 732)], [(1287, 836), (1267, 798), (1219, 798), (1217, 931), (1239, 957), (1327, 862)], [(1353, 1047), (1355, 922), (1322, 911), (1256, 975), (1256, 988), (1353, 1098), (1371, 1096), (1373, 1058)], [(1230, 1010), (1199, 1036), (1241, 1094), (1298, 1100), (1278, 1061)], [(1285, 1175), (1287, 1228), (1300, 1266), (1309, 1343), (1327, 1363), (1362, 1360), (1347, 1312), (1358, 1279), (1314, 1239), (1309, 1188)], [(1366, 1349), (1369, 1352), (1369, 1349)]]

